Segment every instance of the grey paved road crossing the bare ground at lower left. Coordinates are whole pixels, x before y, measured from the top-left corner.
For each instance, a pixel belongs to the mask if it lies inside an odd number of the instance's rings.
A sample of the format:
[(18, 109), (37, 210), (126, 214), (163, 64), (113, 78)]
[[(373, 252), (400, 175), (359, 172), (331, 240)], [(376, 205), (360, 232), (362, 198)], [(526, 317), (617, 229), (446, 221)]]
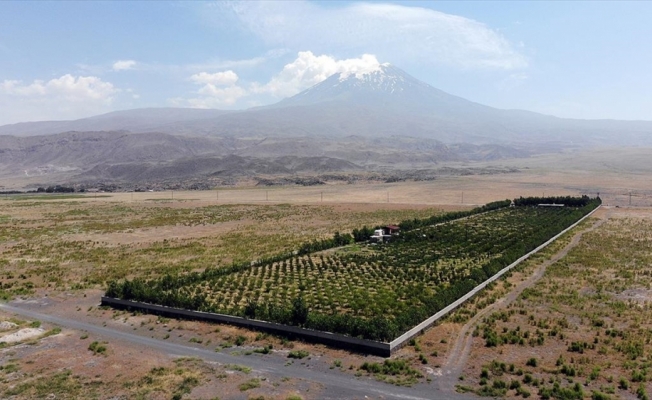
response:
[[(222, 352), (215, 352), (212, 349), (198, 348), (191, 345), (170, 343), (151, 337), (136, 335), (103, 326), (77, 321), (70, 318), (43, 314), (38, 311), (27, 309), (24, 306), (17, 307), (11, 304), (0, 304), (0, 309), (18, 314), (30, 319), (49, 322), (66, 328), (88, 331), (100, 335), (105, 339), (120, 340), (146, 346), (166, 354), (186, 357), (199, 357), (206, 361), (215, 361), (222, 364), (246, 365), (258, 373), (277, 378), (291, 376), (294, 378), (312, 381), (324, 386), (320, 398), (323, 399), (352, 399), (352, 398), (383, 398), (383, 399), (442, 399), (442, 400), (465, 400), (476, 399), (474, 396), (461, 395), (457, 393), (444, 393), (437, 389), (436, 380), (431, 384), (419, 384), (411, 388), (397, 387), (371, 378), (356, 378), (350, 374), (340, 372), (336, 369), (326, 371), (315, 371), (304, 365), (294, 363), (286, 366), (287, 359), (274, 356), (237, 356)], [(435, 377), (436, 379), (436, 377)]]

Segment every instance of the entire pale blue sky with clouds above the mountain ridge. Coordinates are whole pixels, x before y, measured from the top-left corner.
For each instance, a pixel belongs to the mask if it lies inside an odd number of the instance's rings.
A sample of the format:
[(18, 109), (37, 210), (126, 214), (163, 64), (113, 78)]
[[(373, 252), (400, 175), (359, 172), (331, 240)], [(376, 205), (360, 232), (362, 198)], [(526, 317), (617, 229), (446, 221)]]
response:
[(652, 120), (652, 2), (0, 2), (0, 125), (245, 109), (391, 63), (564, 118)]

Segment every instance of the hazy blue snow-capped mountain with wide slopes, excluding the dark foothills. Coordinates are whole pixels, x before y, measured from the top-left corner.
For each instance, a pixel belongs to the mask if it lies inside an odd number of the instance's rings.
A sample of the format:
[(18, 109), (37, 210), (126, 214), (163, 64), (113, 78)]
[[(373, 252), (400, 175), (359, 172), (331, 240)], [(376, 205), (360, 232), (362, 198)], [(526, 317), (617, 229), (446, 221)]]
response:
[[(476, 145), (652, 143), (652, 122), (572, 120), (500, 110), (436, 89), (390, 64), (334, 74), (270, 106), (198, 111), (129, 110), (77, 121), (5, 126), (0, 127), (0, 135), (57, 133), (65, 126), (65, 130), (120, 129), (256, 140), (353, 135)], [(166, 118), (156, 116), (161, 112)]]

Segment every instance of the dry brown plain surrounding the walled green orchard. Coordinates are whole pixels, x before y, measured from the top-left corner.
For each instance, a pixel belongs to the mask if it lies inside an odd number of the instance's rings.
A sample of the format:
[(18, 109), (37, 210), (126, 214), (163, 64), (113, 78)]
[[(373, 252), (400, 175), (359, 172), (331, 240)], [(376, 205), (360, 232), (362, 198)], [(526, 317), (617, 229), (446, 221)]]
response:
[[(519, 172), (392, 184), (6, 196), (1, 294), (16, 309), (0, 309), (15, 340), (0, 350), (1, 397), (647, 398), (650, 156), (564, 153), (481, 164)], [(228, 265), (506, 198), (597, 193), (598, 214), (402, 349), (396, 375), (360, 369), (378, 357), (98, 307), (114, 278)]]

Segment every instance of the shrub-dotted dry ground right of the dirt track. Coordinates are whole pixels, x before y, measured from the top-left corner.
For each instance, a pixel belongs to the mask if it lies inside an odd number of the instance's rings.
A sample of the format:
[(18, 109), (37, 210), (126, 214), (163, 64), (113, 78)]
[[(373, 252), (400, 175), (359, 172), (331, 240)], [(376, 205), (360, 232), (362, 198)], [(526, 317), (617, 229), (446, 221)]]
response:
[[(646, 396), (651, 231), (649, 219), (606, 220), (515, 302), (482, 320), (478, 333), (495, 343), (483, 352), (496, 358), (538, 355), (517, 363), (515, 372), (525, 371), (517, 396), (524, 391), (551, 399)], [(495, 377), (518, 377), (500, 365), (485, 365), (474, 380), (477, 386), (470, 387), (486, 390), (482, 387)]]

